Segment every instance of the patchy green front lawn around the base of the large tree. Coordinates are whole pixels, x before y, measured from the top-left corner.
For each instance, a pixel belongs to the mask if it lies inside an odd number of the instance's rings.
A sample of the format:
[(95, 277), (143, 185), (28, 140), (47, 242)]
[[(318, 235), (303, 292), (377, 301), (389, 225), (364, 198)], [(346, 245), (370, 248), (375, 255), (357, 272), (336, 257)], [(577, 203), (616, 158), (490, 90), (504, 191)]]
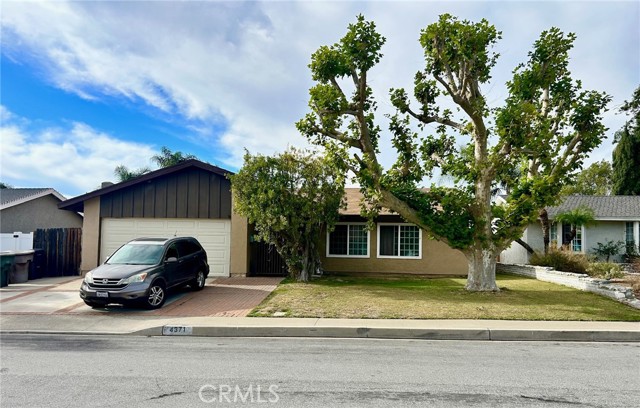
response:
[(500, 292), (473, 293), (465, 278), (285, 280), (249, 316), (640, 321), (640, 310), (592, 293), (516, 275), (497, 281)]

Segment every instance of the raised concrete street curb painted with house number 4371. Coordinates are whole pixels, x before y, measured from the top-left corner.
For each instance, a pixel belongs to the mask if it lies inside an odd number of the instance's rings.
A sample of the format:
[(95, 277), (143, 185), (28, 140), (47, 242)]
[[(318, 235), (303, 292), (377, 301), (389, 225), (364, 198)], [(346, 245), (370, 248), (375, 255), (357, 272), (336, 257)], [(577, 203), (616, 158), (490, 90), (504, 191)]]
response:
[[(164, 327), (150, 327), (129, 333), (133, 336), (163, 336)], [(640, 342), (640, 331), (598, 330), (509, 330), (509, 329), (419, 329), (378, 327), (261, 327), (261, 326), (187, 326), (192, 337), (309, 337), (407, 340), (476, 341), (570, 341)], [(164, 334), (166, 335), (166, 334)]]

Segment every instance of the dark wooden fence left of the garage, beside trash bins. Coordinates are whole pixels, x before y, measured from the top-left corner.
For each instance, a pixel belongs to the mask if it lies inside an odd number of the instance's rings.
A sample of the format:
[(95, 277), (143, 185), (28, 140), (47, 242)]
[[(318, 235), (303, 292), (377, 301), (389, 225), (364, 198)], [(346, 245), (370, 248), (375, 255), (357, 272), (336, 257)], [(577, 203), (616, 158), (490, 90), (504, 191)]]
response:
[(80, 275), (82, 228), (38, 229), (33, 234), (33, 248), (43, 250), (34, 265), (38, 277)]

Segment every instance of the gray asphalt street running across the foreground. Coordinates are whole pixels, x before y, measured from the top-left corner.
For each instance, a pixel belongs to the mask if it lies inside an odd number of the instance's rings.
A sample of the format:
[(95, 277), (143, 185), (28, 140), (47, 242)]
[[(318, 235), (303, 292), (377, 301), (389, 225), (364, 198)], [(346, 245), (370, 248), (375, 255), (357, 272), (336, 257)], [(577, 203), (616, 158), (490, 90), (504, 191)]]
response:
[(3, 334), (2, 407), (628, 407), (640, 344)]

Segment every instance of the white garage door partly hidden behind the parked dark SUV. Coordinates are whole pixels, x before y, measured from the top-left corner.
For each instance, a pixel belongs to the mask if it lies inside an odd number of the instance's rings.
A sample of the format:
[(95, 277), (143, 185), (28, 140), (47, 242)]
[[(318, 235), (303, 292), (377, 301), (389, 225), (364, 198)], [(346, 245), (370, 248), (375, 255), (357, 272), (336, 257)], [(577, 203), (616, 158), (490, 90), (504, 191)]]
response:
[(229, 276), (230, 220), (104, 218), (100, 235), (101, 262), (134, 238), (195, 237), (207, 251), (209, 276)]

